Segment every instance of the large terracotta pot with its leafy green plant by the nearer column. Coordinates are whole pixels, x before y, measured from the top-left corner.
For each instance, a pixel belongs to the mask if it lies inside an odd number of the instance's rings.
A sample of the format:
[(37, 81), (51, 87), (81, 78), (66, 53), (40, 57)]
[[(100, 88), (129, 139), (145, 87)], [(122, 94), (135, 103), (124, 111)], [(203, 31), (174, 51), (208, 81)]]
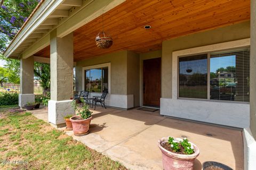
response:
[(77, 112), (77, 115), (70, 117), (74, 134), (81, 136), (89, 133), (89, 127), (92, 120), (92, 112), (89, 110), (89, 106), (84, 105), (83, 107), (78, 108), (78, 104), (73, 100), (73, 107)]

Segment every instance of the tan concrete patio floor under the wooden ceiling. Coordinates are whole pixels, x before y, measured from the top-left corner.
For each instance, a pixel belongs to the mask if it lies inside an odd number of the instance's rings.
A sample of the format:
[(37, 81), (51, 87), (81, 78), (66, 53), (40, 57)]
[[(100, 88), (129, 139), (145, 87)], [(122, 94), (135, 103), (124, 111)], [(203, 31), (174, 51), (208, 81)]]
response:
[[(47, 122), (47, 110), (33, 111)], [(194, 169), (202, 169), (205, 161), (221, 162), (233, 169), (243, 169), (242, 131), (213, 125), (164, 117), (157, 112), (138, 109), (123, 111), (97, 107), (93, 111), (90, 133), (76, 137), (86, 146), (117, 160), (129, 169), (163, 169), (162, 155), (157, 141), (162, 137), (186, 136), (200, 149)]]

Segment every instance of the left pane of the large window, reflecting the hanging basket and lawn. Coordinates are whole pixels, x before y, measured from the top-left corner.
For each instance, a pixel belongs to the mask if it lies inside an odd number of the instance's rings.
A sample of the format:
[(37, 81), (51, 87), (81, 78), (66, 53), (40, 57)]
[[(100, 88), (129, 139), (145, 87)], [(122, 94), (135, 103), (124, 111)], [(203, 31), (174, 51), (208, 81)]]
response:
[(207, 54), (179, 58), (179, 97), (207, 99)]

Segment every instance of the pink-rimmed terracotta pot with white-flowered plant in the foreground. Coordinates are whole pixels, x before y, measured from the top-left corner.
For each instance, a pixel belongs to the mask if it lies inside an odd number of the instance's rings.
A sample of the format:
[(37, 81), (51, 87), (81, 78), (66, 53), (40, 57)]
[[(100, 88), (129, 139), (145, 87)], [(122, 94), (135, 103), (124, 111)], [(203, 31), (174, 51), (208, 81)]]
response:
[(199, 155), (199, 148), (186, 138), (165, 137), (158, 140), (158, 147), (162, 151), (164, 170), (192, 170)]

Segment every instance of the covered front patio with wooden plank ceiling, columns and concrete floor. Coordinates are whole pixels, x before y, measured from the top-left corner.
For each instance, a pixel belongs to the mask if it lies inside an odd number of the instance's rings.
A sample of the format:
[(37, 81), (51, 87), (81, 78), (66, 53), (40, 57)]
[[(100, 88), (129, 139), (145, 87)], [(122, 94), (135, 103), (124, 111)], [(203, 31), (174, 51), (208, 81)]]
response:
[[(98, 107), (91, 133), (74, 138), (128, 168), (162, 169), (157, 140), (172, 135), (186, 136), (201, 149), (195, 169), (206, 160), (254, 169), (255, 4), (255, 0), (41, 1), (4, 54), (20, 60), (19, 106), (35, 101), (34, 62), (50, 63), (48, 110), (34, 114), (59, 128), (63, 117), (75, 114), (74, 90), (87, 90), (89, 97), (106, 90), (108, 109)], [(103, 27), (114, 42), (108, 49), (95, 45)], [(214, 65), (212, 58), (220, 64)], [(181, 67), (182, 62), (187, 65)], [(222, 74), (228, 79), (222, 83), (218, 70), (228, 67), (233, 71)], [(134, 109), (145, 106), (159, 112)]]

